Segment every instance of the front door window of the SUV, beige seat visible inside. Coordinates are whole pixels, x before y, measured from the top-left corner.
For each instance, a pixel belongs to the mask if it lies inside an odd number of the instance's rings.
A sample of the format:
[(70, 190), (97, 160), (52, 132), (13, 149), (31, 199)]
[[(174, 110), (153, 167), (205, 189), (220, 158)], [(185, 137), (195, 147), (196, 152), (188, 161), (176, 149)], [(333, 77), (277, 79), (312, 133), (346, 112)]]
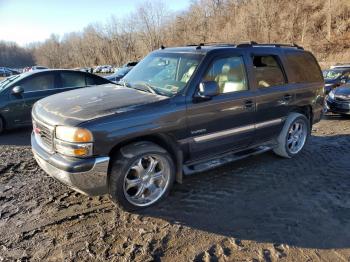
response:
[(220, 93), (248, 90), (244, 62), (239, 56), (216, 59), (203, 81), (216, 81)]

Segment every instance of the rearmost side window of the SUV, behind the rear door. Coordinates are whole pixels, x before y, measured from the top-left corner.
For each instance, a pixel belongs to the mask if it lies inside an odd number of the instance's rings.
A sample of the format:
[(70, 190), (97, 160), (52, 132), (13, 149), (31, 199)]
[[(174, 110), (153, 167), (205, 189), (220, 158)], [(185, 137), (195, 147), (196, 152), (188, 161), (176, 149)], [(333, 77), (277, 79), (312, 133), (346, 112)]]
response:
[(286, 52), (286, 59), (294, 83), (322, 82), (323, 77), (316, 59), (307, 52)]

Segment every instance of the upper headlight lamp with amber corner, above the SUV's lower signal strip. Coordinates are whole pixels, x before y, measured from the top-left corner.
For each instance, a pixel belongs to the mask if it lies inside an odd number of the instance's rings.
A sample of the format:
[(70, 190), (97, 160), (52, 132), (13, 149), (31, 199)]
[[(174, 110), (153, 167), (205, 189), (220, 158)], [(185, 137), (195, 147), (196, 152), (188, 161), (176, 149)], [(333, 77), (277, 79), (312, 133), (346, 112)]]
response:
[(56, 138), (72, 143), (86, 143), (93, 141), (92, 134), (89, 130), (69, 126), (56, 127)]

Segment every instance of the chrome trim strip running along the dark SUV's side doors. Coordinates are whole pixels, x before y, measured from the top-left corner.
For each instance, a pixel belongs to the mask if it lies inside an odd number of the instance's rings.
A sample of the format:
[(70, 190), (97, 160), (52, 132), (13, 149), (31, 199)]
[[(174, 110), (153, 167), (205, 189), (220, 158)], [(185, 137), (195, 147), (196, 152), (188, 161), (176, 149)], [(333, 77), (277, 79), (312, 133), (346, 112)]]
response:
[[(232, 129), (226, 129), (224, 131), (219, 131), (219, 132), (211, 133), (208, 135), (193, 137), (193, 140), (195, 142), (203, 142), (203, 141), (207, 141), (207, 140), (216, 139), (219, 137), (239, 134), (239, 133), (250, 131), (252, 129), (259, 129), (259, 128), (264, 128), (264, 127), (280, 124), (283, 122), (283, 119), (284, 118), (277, 118), (277, 119), (261, 122), (261, 123), (254, 124), (254, 125), (246, 125), (246, 126), (236, 127), (236, 128), (232, 128)], [(186, 140), (187, 139), (182, 139), (180, 141), (186, 141)]]

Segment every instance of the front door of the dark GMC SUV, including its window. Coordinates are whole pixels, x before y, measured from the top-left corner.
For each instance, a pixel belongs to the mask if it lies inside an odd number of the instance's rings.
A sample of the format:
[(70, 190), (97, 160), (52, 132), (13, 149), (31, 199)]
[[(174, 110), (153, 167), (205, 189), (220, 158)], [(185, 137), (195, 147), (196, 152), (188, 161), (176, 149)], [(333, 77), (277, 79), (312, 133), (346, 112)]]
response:
[(249, 88), (245, 63), (245, 56), (238, 51), (215, 57), (200, 82), (216, 81), (220, 94), (209, 101), (188, 99), (191, 160), (237, 150), (252, 143), (255, 98)]

